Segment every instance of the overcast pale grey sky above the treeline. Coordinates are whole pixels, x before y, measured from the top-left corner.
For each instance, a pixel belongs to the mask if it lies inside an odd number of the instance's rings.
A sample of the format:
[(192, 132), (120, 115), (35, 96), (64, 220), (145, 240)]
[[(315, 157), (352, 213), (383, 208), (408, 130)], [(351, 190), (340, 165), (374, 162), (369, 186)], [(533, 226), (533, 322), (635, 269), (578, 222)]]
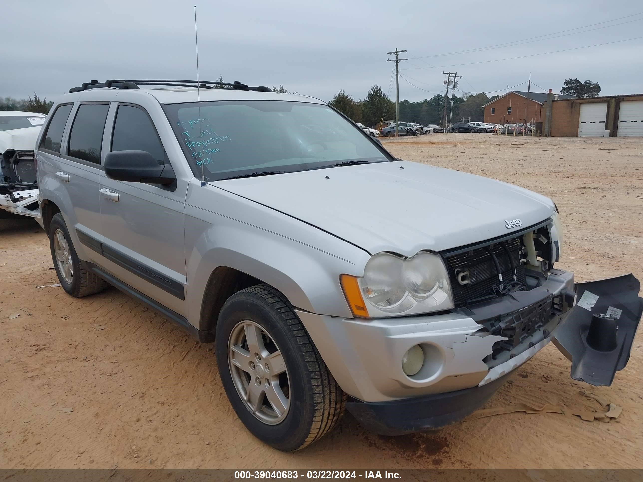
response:
[[(640, 0), (6, 0), (0, 97), (53, 100), (91, 79), (196, 78), (194, 4), (206, 80), (283, 84), (323, 100), (340, 89), (363, 98), (379, 84), (395, 99), (386, 52), (399, 48), (409, 59), (400, 99), (444, 93), (442, 71), (462, 75), (462, 91), (490, 96), (530, 72), (533, 91), (558, 93), (577, 77), (599, 82), (601, 95), (643, 93), (643, 38), (548, 53), (643, 37)], [(531, 38), (549, 33), (565, 36)], [(520, 40), (529, 43), (453, 54)]]

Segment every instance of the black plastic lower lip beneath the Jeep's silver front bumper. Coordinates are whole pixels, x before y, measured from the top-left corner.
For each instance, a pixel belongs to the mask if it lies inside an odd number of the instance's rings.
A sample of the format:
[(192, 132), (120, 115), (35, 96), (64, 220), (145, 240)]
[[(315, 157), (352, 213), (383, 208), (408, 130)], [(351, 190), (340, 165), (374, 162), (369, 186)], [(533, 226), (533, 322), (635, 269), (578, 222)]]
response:
[(435, 430), (462, 420), (482, 407), (507, 380), (507, 373), (481, 387), (391, 402), (352, 400), (346, 407), (368, 430), (381, 435)]

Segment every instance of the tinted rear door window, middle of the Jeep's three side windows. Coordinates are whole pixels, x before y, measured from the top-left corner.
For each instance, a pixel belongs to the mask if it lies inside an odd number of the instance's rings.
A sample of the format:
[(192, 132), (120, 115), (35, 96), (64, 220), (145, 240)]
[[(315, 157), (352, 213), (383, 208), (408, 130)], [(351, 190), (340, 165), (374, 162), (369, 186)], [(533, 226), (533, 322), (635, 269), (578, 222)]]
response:
[(68, 156), (100, 164), (100, 147), (108, 110), (108, 104), (80, 104), (69, 134)]

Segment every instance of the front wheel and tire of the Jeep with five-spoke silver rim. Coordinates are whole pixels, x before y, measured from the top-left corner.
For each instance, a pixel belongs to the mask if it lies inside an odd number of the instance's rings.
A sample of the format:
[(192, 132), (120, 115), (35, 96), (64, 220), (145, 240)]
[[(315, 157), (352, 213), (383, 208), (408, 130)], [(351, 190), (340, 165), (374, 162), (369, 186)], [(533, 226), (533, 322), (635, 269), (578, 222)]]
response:
[(340, 420), (347, 395), (293, 306), (273, 287), (253, 286), (226, 301), (216, 354), (231, 406), (255, 437), (275, 449), (303, 449)]

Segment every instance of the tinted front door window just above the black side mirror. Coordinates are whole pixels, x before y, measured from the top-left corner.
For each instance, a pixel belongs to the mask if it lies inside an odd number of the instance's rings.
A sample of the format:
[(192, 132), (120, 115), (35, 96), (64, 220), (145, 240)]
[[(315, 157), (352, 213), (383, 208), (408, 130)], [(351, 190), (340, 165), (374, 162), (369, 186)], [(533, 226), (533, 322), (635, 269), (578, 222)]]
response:
[(160, 165), (165, 163), (165, 150), (152, 121), (147, 112), (133, 105), (118, 106), (111, 150), (144, 150)]

